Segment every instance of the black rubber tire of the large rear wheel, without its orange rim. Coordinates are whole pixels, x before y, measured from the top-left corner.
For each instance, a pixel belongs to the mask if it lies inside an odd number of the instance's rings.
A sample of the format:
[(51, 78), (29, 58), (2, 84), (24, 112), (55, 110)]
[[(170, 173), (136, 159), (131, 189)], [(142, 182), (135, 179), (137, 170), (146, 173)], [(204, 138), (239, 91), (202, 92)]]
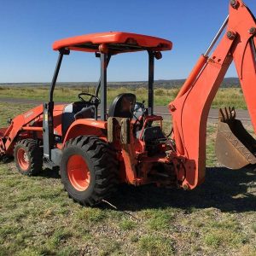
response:
[[(73, 187), (67, 175), (70, 156), (80, 155), (88, 166), (90, 183), (87, 189), (79, 191)], [(118, 161), (108, 143), (98, 137), (80, 136), (68, 141), (64, 148), (60, 166), (61, 182), (69, 197), (84, 206), (94, 206), (116, 191)]]

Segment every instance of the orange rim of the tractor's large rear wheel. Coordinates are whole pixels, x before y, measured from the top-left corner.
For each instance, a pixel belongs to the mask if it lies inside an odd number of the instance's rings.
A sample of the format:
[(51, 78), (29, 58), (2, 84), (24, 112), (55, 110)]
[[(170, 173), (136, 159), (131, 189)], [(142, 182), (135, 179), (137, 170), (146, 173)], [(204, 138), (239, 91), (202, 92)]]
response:
[(73, 188), (84, 191), (90, 184), (90, 171), (81, 155), (74, 154), (67, 161), (67, 176)]

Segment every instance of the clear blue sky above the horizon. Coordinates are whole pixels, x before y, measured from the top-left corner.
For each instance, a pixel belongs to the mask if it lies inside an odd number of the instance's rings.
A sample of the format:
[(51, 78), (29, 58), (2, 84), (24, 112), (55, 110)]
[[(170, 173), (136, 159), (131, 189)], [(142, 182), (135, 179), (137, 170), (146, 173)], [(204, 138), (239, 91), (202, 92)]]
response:
[[(256, 14), (255, 0), (245, 1)], [(155, 61), (155, 79), (185, 79), (226, 15), (228, 0), (0, 0), (0, 83), (49, 82), (57, 52), (52, 43), (91, 32), (124, 31), (172, 41)], [(114, 56), (108, 80), (146, 80), (145, 53)], [(63, 60), (59, 81), (96, 81), (99, 61), (73, 52)], [(227, 73), (236, 76), (234, 67)]]

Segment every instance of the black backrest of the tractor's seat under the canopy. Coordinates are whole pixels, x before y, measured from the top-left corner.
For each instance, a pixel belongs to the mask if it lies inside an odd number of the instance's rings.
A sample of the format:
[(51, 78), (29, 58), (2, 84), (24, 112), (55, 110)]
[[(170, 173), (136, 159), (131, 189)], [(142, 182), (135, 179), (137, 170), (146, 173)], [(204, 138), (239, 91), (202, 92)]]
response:
[(122, 93), (113, 99), (108, 110), (109, 117), (132, 118), (136, 96), (132, 93)]

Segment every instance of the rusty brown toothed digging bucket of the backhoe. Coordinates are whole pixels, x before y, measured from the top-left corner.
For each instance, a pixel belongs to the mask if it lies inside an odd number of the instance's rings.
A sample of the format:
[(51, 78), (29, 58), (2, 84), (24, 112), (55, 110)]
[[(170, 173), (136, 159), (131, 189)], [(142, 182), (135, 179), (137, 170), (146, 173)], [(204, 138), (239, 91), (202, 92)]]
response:
[(215, 153), (218, 162), (230, 169), (256, 164), (256, 141), (236, 119), (235, 108), (219, 109)]

